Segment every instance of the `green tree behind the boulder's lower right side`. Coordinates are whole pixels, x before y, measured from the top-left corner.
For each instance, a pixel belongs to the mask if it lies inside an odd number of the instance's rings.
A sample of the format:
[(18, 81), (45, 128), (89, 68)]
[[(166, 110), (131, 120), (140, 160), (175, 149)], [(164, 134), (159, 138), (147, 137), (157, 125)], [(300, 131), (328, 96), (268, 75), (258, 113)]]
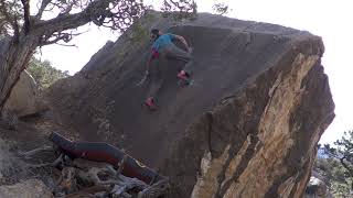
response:
[[(324, 153), (334, 158), (340, 169), (336, 168), (338, 180), (347, 184), (350, 191), (353, 191), (353, 131), (344, 132), (341, 140), (334, 142), (334, 147), (330, 144), (324, 145)], [(335, 166), (339, 167), (339, 166)]]

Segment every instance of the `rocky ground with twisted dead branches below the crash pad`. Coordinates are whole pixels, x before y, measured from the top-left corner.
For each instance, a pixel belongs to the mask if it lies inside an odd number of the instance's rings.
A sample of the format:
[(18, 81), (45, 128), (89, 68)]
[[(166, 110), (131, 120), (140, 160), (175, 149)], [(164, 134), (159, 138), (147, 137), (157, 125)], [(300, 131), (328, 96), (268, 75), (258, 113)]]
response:
[(49, 141), (53, 131), (75, 140), (71, 129), (47, 114), (22, 118), (15, 130), (0, 128), (1, 198), (153, 198), (167, 194), (168, 180), (147, 184), (124, 176), (124, 160), (117, 168), (63, 155)]

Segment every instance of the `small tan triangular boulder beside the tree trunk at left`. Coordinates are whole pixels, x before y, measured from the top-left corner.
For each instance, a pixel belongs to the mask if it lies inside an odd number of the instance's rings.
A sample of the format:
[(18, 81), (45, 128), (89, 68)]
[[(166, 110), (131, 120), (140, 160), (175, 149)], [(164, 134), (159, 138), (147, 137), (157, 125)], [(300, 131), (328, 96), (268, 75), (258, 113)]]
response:
[(18, 117), (35, 114), (45, 109), (39, 99), (38, 85), (26, 70), (21, 74), (4, 108)]

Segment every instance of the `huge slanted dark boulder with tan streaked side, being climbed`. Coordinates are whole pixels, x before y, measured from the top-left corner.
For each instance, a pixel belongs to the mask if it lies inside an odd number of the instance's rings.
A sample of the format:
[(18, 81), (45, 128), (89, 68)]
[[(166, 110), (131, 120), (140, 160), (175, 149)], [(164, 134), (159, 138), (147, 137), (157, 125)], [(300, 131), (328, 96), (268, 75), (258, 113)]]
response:
[(149, 82), (136, 84), (149, 40), (131, 40), (131, 29), (95, 66), (52, 87), (61, 121), (169, 176), (171, 197), (302, 197), (334, 118), (321, 37), (206, 13), (172, 19), (154, 14), (143, 24), (191, 42), (192, 86), (178, 86), (182, 63), (169, 62), (159, 109), (145, 109)]

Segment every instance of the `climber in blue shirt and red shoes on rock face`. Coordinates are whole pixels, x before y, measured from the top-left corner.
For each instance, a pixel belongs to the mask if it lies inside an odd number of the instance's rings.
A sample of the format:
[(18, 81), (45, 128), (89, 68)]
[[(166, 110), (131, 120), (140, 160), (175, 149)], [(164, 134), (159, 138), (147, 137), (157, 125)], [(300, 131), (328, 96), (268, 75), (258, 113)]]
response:
[[(190, 84), (190, 74), (192, 66), (191, 47), (186, 43), (185, 38), (180, 35), (165, 33), (163, 34), (160, 30), (151, 30), (151, 41), (153, 42), (151, 47), (151, 55), (147, 62), (146, 76), (151, 79), (151, 87), (148, 98), (145, 105), (151, 110), (156, 109), (156, 95), (161, 88), (165, 70), (168, 69), (168, 59), (178, 59), (185, 63), (184, 67), (178, 73), (176, 77), (183, 85)], [(181, 50), (173, 44), (172, 41), (179, 40), (186, 51)]]

